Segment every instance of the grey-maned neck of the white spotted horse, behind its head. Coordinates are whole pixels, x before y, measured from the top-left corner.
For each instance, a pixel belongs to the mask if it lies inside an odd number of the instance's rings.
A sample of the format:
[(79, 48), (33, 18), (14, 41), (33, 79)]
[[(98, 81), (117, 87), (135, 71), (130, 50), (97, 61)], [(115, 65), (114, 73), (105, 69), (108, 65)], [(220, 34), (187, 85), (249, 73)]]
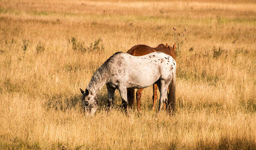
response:
[(100, 89), (106, 84), (109, 74), (102, 68), (102, 66), (95, 71), (91, 77), (91, 81), (87, 86), (87, 89), (91, 91), (93, 96), (99, 93)]

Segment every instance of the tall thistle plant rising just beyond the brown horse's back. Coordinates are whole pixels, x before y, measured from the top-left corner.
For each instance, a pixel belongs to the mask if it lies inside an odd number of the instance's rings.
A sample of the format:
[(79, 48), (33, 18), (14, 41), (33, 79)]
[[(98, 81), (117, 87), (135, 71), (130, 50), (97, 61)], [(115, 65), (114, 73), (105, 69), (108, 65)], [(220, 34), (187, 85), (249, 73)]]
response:
[(180, 52), (181, 52), (182, 45), (184, 44), (185, 40), (187, 40), (187, 38), (185, 38), (185, 32), (187, 30), (184, 29), (183, 32), (179, 33), (179, 32), (177, 32), (176, 28), (173, 28), (173, 29), (174, 29), (174, 42), (177, 45), (177, 47), (176, 47), (176, 54), (177, 54), (177, 57), (178, 57)]

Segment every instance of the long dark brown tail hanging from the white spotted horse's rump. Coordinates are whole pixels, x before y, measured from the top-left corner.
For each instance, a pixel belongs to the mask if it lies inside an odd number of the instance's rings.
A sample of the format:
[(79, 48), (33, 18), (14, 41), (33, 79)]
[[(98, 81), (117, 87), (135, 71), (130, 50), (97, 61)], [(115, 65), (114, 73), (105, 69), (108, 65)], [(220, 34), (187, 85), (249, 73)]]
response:
[(176, 82), (176, 72), (172, 77), (171, 83), (169, 84), (169, 93), (168, 93), (168, 110), (170, 114), (174, 114), (175, 111), (175, 82)]

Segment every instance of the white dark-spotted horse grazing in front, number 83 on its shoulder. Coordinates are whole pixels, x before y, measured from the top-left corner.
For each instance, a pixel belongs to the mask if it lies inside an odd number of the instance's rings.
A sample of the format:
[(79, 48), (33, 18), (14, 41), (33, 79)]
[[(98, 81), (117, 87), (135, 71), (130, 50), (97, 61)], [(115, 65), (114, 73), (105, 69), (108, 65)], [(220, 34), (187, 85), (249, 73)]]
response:
[(117, 52), (112, 55), (91, 77), (85, 91), (82, 93), (82, 104), (87, 115), (94, 115), (97, 107), (97, 93), (106, 84), (108, 91), (108, 107), (112, 108), (115, 89), (121, 95), (123, 106), (129, 116), (127, 88), (146, 88), (156, 84), (159, 87), (161, 110), (171, 81), (175, 84), (176, 62), (168, 54), (154, 52), (135, 57), (128, 53)]

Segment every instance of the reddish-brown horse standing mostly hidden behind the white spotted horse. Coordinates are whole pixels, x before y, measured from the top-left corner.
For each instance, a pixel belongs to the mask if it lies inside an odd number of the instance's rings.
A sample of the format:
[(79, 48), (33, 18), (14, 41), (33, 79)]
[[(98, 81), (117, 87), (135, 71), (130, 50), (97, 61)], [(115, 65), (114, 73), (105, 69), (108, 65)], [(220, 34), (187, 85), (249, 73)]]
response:
[[(170, 55), (176, 60), (176, 52), (175, 52), (176, 44), (173, 45), (173, 47), (169, 46), (167, 43), (166, 45), (164, 44), (159, 44), (156, 48), (151, 48), (147, 45), (135, 45), (129, 51), (127, 51), (128, 54), (131, 54), (133, 56), (143, 56), (146, 54), (150, 54), (153, 52), (163, 52), (165, 54)], [(140, 111), (140, 100), (141, 100), (141, 93), (143, 91), (143, 88), (140, 88), (136, 92), (136, 99), (137, 99), (137, 110)], [(171, 81), (170, 85), (168, 86), (168, 110), (174, 112), (175, 109), (175, 81)], [(134, 103), (134, 89), (133, 88), (127, 88), (127, 100), (128, 100), (128, 105), (129, 107), (132, 107)], [(153, 84), (153, 108), (155, 107), (156, 104), (156, 99), (157, 99), (157, 85)], [(165, 104), (164, 104), (165, 107)]]

